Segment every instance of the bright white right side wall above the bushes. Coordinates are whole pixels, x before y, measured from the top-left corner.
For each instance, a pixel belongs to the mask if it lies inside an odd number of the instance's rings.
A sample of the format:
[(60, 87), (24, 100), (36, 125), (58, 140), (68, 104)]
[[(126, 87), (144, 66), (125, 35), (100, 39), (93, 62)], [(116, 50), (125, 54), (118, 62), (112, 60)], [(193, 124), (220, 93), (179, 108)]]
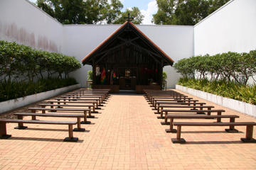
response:
[(195, 55), (256, 49), (256, 1), (232, 0), (194, 27)]

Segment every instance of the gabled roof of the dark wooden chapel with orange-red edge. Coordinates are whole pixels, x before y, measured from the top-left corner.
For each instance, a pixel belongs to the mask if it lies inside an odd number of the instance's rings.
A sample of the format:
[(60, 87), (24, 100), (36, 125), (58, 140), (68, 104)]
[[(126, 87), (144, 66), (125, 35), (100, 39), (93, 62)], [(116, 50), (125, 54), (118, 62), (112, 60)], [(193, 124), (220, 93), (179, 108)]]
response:
[(153, 55), (157, 55), (158, 57), (161, 57), (164, 60), (164, 65), (172, 65), (174, 64), (174, 60), (169, 57), (159, 46), (157, 46), (153, 41), (151, 41), (144, 33), (142, 33), (137, 26), (134, 25), (134, 23), (130, 21), (126, 21), (120, 28), (114, 31), (106, 40), (100, 43), (97, 47), (95, 47), (92, 52), (87, 54), (83, 59), (82, 59), (82, 64), (92, 64), (92, 58), (99, 54), (100, 52), (104, 51), (106, 49), (107, 45), (110, 45), (115, 39), (118, 38), (119, 35), (121, 35), (126, 28), (131, 29), (137, 36), (139, 36), (139, 39), (143, 41), (144, 44), (147, 45), (149, 48), (149, 52), (151, 52)]

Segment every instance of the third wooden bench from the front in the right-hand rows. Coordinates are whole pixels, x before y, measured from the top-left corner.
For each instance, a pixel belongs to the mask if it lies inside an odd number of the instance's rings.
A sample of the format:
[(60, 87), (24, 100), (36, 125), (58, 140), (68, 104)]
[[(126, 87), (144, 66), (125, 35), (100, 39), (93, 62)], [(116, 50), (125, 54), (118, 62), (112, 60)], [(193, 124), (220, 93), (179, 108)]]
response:
[[(162, 122), (162, 125), (168, 125), (167, 123), (167, 115), (168, 113), (196, 113), (196, 114), (205, 114), (210, 115), (210, 113), (217, 113), (217, 115), (221, 115), (221, 113), (225, 112), (224, 110), (169, 110), (169, 109), (164, 109), (164, 122)], [(221, 122), (221, 118), (217, 118), (217, 122)]]

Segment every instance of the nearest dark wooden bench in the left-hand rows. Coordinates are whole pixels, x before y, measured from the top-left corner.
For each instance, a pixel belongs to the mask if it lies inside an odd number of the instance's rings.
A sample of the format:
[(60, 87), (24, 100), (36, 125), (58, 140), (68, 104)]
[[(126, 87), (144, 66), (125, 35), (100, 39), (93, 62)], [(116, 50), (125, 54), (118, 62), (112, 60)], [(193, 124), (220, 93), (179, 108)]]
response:
[(77, 142), (78, 141), (78, 137), (73, 137), (73, 125), (77, 124), (76, 121), (0, 119), (0, 138), (1, 139), (7, 139), (7, 138), (11, 137), (11, 135), (7, 135), (6, 123), (68, 125), (68, 137), (65, 137), (64, 142)]

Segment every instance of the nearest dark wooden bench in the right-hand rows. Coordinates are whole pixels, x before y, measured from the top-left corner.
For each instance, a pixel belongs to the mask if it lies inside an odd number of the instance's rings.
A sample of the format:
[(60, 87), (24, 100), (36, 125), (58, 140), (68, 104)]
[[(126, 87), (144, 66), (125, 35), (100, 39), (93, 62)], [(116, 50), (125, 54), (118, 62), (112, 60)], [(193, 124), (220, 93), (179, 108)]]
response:
[(186, 140), (181, 138), (181, 126), (246, 126), (246, 134), (245, 138), (241, 138), (242, 142), (256, 142), (255, 139), (252, 138), (253, 134), (253, 126), (256, 125), (254, 122), (239, 122), (239, 123), (174, 123), (177, 126), (177, 136), (176, 138), (172, 138), (171, 141), (173, 143), (184, 143)]

